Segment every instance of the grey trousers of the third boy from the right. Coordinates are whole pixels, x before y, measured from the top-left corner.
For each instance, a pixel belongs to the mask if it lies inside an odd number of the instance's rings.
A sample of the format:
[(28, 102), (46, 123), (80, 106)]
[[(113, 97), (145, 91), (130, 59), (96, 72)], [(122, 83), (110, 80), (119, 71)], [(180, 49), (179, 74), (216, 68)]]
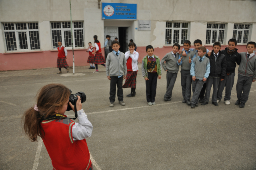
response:
[(213, 86), (212, 102), (217, 102), (217, 92), (218, 92), (219, 83), (220, 83), (220, 77), (218, 77), (218, 78), (208, 77), (207, 78), (206, 93), (204, 95), (204, 102), (206, 102), (206, 103), (209, 102), (212, 86)]

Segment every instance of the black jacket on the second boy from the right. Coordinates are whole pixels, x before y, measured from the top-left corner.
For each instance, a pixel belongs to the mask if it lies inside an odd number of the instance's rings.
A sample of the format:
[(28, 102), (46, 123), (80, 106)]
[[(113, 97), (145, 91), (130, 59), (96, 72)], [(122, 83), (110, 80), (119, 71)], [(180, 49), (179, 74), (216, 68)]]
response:
[(241, 56), (240, 54), (237, 52), (237, 48), (235, 48), (236, 52), (234, 52), (233, 54), (229, 55), (227, 52), (227, 48), (225, 48), (225, 50), (222, 50), (222, 54), (224, 54), (226, 56), (226, 61), (227, 61), (227, 70), (226, 73), (234, 73), (235, 69), (236, 69), (236, 63), (238, 65), (240, 65), (241, 62)]

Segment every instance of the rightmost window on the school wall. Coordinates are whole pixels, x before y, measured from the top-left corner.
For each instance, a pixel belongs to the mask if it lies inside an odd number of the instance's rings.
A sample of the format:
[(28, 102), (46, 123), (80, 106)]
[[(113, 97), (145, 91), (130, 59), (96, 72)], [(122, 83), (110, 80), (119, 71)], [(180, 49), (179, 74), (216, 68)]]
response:
[(233, 38), (237, 43), (247, 44), (249, 39), (250, 24), (234, 24)]

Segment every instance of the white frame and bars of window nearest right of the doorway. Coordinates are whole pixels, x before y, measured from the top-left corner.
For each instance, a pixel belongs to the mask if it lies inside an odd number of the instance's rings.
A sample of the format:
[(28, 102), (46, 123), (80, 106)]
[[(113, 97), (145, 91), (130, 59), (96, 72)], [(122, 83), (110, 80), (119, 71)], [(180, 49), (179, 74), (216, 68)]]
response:
[[(165, 42), (164, 42), (165, 46), (172, 46), (172, 45), (175, 44), (175, 43), (183, 44), (182, 41), (184, 41), (184, 40), (181, 39), (182, 30), (188, 30), (187, 39), (185, 39), (185, 40), (190, 40), (190, 22), (166, 21), (166, 24), (168, 24), (168, 23), (172, 23), (172, 26), (171, 26), (171, 27), (167, 27), (167, 26), (166, 26), (166, 28), (165, 28)], [(177, 27), (174, 28), (174, 23), (180, 23), (180, 27), (179, 27), (179, 28), (177, 28)], [(188, 28), (182, 28), (182, 23), (188, 24)], [(172, 30), (172, 34), (171, 34), (171, 44), (169, 44), (168, 42), (166, 42), (166, 41), (167, 41), (167, 38), (168, 38), (168, 37), (166, 37), (166, 34), (167, 34), (166, 31), (167, 31), (167, 30)], [(177, 41), (174, 42), (174, 30), (179, 30), (178, 42), (177, 42)]]

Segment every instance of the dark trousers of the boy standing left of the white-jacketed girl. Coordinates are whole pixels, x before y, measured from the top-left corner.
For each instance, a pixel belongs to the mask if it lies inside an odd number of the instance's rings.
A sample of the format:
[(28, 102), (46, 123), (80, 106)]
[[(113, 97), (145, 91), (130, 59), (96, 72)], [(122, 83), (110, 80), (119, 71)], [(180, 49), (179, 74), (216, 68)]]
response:
[(109, 101), (111, 102), (115, 102), (115, 98), (116, 98), (116, 86), (117, 86), (117, 97), (118, 97), (118, 101), (122, 101), (124, 100), (124, 94), (123, 94), (123, 76), (118, 78), (118, 76), (111, 76), (110, 77), (110, 97), (109, 97)]

